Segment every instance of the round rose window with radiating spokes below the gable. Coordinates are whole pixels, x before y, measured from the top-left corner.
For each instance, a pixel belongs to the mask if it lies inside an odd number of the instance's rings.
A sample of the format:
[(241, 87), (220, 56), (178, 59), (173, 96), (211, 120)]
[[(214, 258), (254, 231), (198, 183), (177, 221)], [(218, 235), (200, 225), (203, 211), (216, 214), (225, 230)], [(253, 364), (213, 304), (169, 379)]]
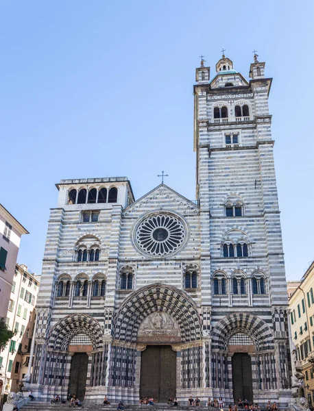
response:
[(150, 216), (136, 231), (138, 247), (152, 256), (165, 256), (176, 251), (184, 242), (184, 226), (175, 216)]

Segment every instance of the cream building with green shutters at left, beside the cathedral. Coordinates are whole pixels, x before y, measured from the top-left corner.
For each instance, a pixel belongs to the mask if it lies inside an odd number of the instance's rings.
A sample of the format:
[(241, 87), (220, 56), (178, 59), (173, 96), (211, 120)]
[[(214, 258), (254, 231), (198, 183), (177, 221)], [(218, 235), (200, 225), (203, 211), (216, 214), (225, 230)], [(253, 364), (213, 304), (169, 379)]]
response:
[(24, 264), (16, 264), (6, 323), (16, 332), (8, 345), (0, 352), (0, 373), (3, 392), (21, 390), (21, 382), (27, 373), (29, 353), (35, 324), (35, 306), (40, 277), (27, 271)]

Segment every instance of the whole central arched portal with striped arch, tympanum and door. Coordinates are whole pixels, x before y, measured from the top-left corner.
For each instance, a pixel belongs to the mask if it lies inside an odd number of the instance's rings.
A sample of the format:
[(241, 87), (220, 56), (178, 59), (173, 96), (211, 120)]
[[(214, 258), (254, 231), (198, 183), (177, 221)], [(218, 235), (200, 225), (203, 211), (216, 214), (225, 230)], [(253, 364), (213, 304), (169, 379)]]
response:
[(112, 336), (112, 385), (160, 402), (201, 388), (202, 326), (186, 292), (160, 283), (132, 292), (114, 316)]

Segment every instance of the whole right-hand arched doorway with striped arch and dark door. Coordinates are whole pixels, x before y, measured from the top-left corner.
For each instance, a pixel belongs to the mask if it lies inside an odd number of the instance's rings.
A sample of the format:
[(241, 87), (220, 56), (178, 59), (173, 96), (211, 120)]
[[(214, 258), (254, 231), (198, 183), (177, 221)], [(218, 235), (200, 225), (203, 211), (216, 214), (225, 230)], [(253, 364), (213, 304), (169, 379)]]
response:
[[(214, 388), (225, 384), (230, 393), (228, 401), (237, 403), (241, 398), (254, 403), (254, 393), (276, 390), (274, 335), (265, 321), (250, 313), (235, 312), (221, 319), (212, 335), (212, 384)], [(219, 361), (225, 365), (228, 383), (219, 379)]]

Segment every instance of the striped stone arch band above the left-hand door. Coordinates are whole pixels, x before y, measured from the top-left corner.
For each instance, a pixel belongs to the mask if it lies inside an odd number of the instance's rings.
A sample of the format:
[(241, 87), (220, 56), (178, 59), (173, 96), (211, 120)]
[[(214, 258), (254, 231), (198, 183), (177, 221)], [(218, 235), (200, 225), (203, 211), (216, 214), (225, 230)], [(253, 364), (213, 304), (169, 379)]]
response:
[(99, 322), (86, 314), (68, 315), (51, 329), (48, 347), (66, 350), (75, 334), (86, 334), (90, 338), (93, 349), (102, 346), (102, 329)]

